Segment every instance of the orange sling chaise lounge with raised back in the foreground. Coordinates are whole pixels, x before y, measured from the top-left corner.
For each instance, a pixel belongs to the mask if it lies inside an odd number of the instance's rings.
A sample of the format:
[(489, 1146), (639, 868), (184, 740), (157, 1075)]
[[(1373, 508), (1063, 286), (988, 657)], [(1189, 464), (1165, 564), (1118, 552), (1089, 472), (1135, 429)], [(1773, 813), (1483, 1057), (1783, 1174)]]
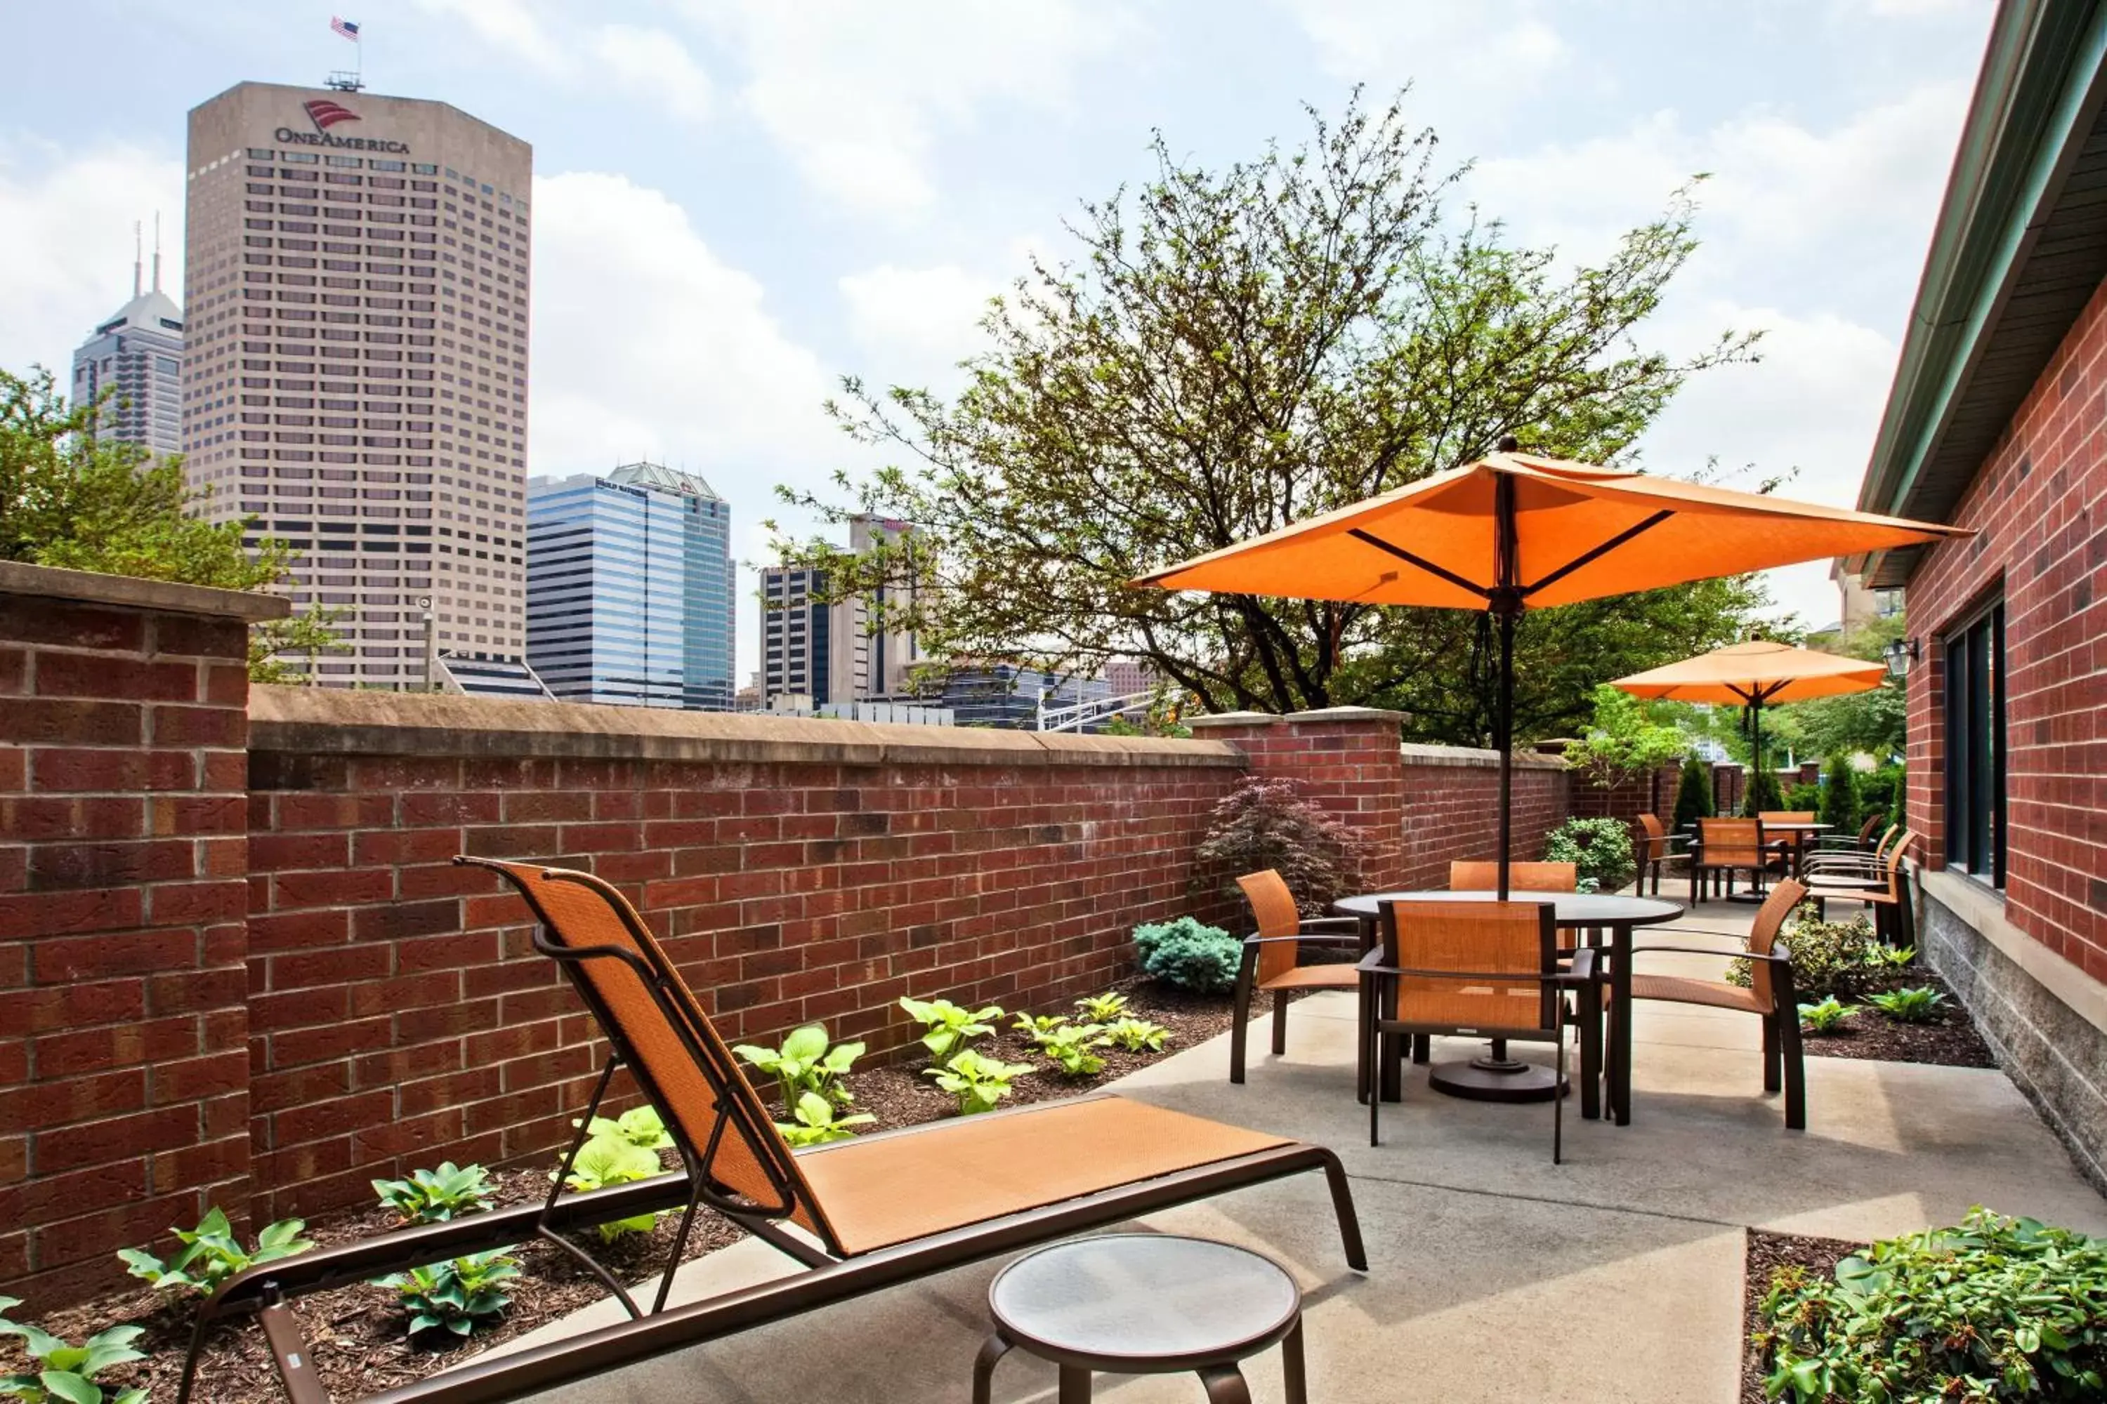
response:
[[(470, 857), (455, 863), (487, 867), (527, 899), (537, 922), (535, 949), (571, 981), (611, 1052), (546, 1204), (316, 1248), (238, 1273), (204, 1303), (196, 1343), (217, 1320), (259, 1316), (287, 1396), (297, 1404), (327, 1402), (327, 1393), (291, 1299), (535, 1236), (582, 1236), (594, 1223), (653, 1210), (683, 1215), (649, 1313), (607, 1267), (569, 1244), (622, 1301), (628, 1322), (470, 1360), (388, 1391), (388, 1404), (518, 1400), (963, 1263), (1308, 1170), (1321, 1170), (1330, 1185), (1346, 1263), (1367, 1271), (1353, 1191), (1330, 1149), (1125, 1097), (1045, 1101), (792, 1151), (687, 981), (615, 886), (533, 863)], [(619, 1067), (664, 1118), (683, 1170), (565, 1194), (563, 1177)], [(803, 1271), (668, 1307), (672, 1273), (702, 1206), (782, 1250)], [(185, 1366), (177, 1404), (190, 1396), (190, 1383)]]

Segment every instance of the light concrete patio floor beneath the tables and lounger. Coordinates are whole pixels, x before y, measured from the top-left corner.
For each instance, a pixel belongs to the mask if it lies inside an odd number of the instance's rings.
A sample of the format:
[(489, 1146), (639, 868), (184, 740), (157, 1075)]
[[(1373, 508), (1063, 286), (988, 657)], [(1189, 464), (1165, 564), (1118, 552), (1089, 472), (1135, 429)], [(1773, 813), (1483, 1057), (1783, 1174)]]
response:
[[(1738, 949), (1749, 907), (1709, 903), (1660, 943)], [(1709, 935), (1692, 937), (1688, 928)], [(1641, 932), (1641, 943), (1648, 939)], [(1641, 970), (1715, 977), (1717, 960), (1654, 956)], [(1877, 1238), (1957, 1219), (1972, 1204), (2107, 1231), (2107, 1202), (1995, 1069), (1808, 1059), (1808, 1130), (1761, 1090), (1757, 1021), (1639, 1006), (1633, 1122), (1582, 1122), (1568, 1103), (1551, 1164), (1551, 1107), (1464, 1103), (1414, 1069), (1367, 1145), (1353, 1097), (1353, 1000), (1294, 1006), (1287, 1057), (1254, 1057), (1228, 1084), (1228, 1040), (1188, 1048), (1115, 1086), (1129, 1097), (1336, 1149), (1353, 1177), (1370, 1271), (1338, 1248), (1323, 1185), (1300, 1177), (1144, 1223), (1268, 1252), (1306, 1292), (1313, 1400), (1618, 1400), (1726, 1404), (1740, 1370), (1742, 1229)], [(1264, 1038), (1254, 1029), (1254, 1050)], [(1469, 1057), (1439, 1040), (1435, 1061)], [(1549, 1059), (1549, 1048), (1521, 1050)], [(933, 1181), (931, 1194), (942, 1194)], [(761, 1242), (691, 1263), (683, 1299), (780, 1276)], [(999, 1263), (963, 1267), (792, 1322), (537, 1396), (577, 1404), (815, 1404), (969, 1398)], [(613, 1320), (552, 1324), (523, 1349)], [(1279, 1400), (1275, 1353), (1245, 1366)], [(997, 1400), (1051, 1400), (1054, 1368), (1022, 1351)], [(1197, 1400), (1190, 1377), (1100, 1377), (1098, 1398)]]

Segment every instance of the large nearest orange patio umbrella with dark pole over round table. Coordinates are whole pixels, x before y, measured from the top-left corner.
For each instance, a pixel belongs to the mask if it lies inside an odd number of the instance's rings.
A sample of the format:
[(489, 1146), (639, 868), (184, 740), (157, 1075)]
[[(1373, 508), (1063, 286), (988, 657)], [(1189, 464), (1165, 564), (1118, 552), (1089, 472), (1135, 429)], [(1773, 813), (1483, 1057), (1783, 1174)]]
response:
[(1513, 838), (1515, 619), (1825, 556), (1966, 537), (1955, 526), (1500, 453), (1363, 503), (1239, 541), (1134, 585), (1300, 600), (1426, 604), (1500, 631), (1500, 897)]

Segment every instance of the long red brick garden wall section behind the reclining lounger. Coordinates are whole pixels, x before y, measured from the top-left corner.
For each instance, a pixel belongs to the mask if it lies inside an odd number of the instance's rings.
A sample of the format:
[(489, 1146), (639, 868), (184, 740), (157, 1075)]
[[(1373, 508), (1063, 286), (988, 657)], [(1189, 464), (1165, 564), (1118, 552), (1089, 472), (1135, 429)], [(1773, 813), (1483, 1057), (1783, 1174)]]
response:
[[(1243, 768), (1190, 741), (280, 688), (257, 718), (253, 1143), (272, 1217), (447, 1156), (544, 1151), (584, 1103), (586, 1015), (518, 899), (455, 853), (617, 882), (733, 1040), (822, 1019), (885, 1050), (910, 1038), (904, 994), (1047, 1006), (1125, 972), (1129, 930), (1188, 907), (1207, 810)], [(552, 730), (579, 724), (605, 730)]]

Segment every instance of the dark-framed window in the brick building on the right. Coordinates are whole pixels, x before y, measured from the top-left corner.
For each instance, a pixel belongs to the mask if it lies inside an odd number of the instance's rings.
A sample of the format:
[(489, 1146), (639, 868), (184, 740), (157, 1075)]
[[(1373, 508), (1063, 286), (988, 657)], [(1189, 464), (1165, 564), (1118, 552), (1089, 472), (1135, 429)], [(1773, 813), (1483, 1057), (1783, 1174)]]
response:
[(1945, 636), (1947, 867), (2004, 886), (2004, 600)]

